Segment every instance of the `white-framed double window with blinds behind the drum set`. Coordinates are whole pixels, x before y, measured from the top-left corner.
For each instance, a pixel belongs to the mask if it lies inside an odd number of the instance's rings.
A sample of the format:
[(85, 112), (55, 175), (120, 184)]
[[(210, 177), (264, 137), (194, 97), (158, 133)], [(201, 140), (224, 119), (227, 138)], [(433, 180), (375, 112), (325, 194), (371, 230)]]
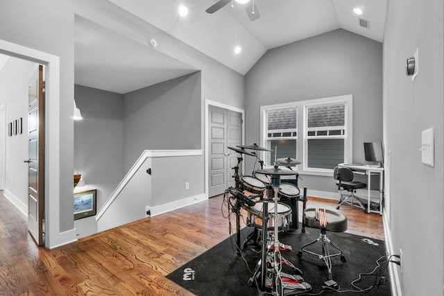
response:
[(261, 107), (261, 143), (266, 165), (275, 159), (298, 159), (298, 172), (331, 175), (352, 159), (352, 96), (336, 96)]

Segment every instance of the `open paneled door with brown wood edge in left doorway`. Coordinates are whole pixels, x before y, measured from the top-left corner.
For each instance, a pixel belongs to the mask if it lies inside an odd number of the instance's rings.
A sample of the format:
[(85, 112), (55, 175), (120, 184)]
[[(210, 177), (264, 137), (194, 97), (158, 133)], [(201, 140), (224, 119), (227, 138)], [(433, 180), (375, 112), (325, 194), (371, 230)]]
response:
[(44, 82), (43, 66), (29, 78), (28, 89), (28, 229), (44, 244)]

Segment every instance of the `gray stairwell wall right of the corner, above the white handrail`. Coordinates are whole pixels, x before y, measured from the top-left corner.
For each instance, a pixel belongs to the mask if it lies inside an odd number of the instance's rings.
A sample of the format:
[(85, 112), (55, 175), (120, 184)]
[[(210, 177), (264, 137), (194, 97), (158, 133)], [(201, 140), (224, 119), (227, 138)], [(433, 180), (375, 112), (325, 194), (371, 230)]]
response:
[(125, 172), (144, 150), (201, 149), (200, 80), (199, 71), (124, 95)]

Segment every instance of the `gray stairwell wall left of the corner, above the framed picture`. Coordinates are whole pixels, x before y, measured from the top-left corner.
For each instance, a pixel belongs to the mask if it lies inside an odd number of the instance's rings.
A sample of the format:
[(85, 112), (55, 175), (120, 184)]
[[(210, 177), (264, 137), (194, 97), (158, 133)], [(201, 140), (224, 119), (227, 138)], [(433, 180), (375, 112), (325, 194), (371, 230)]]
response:
[(123, 177), (123, 96), (81, 85), (74, 96), (83, 116), (74, 121), (74, 173), (97, 189), (100, 209)]

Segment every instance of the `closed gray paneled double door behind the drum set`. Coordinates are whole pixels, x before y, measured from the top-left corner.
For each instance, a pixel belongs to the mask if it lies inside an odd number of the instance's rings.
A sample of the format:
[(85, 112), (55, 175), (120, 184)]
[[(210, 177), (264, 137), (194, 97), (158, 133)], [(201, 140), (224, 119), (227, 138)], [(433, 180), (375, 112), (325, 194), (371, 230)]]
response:
[[(239, 154), (228, 147), (236, 147), (242, 142), (242, 114), (220, 107), (210, 106), (209, 124), (209, 192), (208, 196), (222, 194), (229, 186), (234, 186), (234, 166)], [(239, 166), (239, 173), (241, 166)]]

